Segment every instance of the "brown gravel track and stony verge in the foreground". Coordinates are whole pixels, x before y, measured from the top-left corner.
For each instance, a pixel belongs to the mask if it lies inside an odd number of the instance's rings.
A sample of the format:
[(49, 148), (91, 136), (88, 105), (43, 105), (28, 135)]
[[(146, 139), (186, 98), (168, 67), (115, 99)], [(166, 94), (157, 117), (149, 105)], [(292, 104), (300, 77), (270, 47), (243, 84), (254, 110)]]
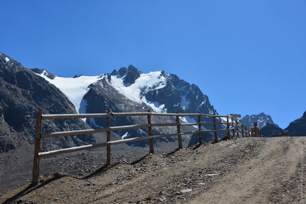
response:
[[(306, 137), (234, 138), (164, 154), (144, 151), (128, 161), (130, 152), (111, 166), (98, 162), (99, 152), (78, 152), (61, 157), (72, 162), (57, 169), (65, 173), (2, 193), (0, 202), (305, 203), (305, 142)], [(73, 165), (77, 158), (85, 158), (83, 168), (70, 175), (69, 169), (79, 168)]]

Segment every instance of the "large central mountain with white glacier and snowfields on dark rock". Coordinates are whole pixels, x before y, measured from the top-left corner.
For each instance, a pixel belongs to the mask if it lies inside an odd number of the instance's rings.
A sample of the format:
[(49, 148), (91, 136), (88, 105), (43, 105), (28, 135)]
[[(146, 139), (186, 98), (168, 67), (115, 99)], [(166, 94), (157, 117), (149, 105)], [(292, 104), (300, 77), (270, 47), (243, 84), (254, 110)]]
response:
[[(147, 111), (175, 113), (204, 113), (216, 114), (217, 111), (210, 104), (198, 86), (190, 85), (176, 75), (164, 71), (143, 73), (132, 65), (121, 67), (110, 74), (98, 76), (80, 76), (75, 78), (49, 77), (46, 71), (33, 70), (51, 84), (60, 89), (76, 107), (79, 113), (105, 112), (108, 108), (112, 112)], [(89, 118), (86, 122), (92, 127), (105, 126), (105, 118)], [(112, 118), (113, 126), (140, 124), (143, 120), (136, 118)], [(173, 120), (173, 118), (166, 118)], [(195, 122), (196, 117), (181, 118), (184, 122)], [(210, 121), (211, 118), (207, 118)], [(203, 121), (205, 119), (203, 118)], [(185, 127), (184, 127), (185, 128)], [(196, 127), (191, 127), (195, 130)], [(212, 128), (212, 126), (205, 126)], [(173, 132), (175, 132), (175, 128)], [(189, 127), (190, 129), (190, 127)], [(158, 129), (157, 129), (158, 130)], [(156, 131), (156, 133), (160, 133)], [(154, 130), (153, 130), (154, 132)], [(147, 135), (145, 129), (129, 130), (118, 134), (122, 138)], [(123, 137), (124, 136), (124, 137)], [(222, 136), (222, 134), (220, 134)], [(163, 139), (160, 139), (163, 140)], [(146, 141), (140, 142), (145, 145)]]

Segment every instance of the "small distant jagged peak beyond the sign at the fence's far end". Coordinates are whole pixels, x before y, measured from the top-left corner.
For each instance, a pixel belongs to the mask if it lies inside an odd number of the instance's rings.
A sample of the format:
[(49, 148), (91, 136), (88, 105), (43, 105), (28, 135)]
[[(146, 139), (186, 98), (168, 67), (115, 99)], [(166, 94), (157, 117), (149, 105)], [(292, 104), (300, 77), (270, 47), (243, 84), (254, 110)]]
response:
[(244, 125), (246, 125), (249, 129), (251, 129), (251, 127), (254, 127), (255, 121), (257, 122), (259, 129), (267, 125), (267, 123), (270, 123), (278, 127), (278, 125), (273, 122), (271, 116), (266, 115), (264, 113), (259, 113), (258, 115), (245, 115), (239, 121), (243, 123)]

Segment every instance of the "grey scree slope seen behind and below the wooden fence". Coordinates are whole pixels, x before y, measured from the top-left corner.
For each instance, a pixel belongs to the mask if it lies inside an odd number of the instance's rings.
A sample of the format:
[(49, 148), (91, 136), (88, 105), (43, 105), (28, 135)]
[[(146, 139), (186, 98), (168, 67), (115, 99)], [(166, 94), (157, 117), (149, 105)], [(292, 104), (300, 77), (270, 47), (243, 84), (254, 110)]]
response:
[[(106, 135), (96, 134), (97, 141), (105, 142)], [(99, 140), (99, 138), (101, 140)], [(112, 138), (112, 140), (119, 140)], [(46, 141), (43, 141), (46, 142)], [(0, 154), (0, 195), (21, 186), (24, 186), (32, 179), (33, 168), (33, 146), (16, 140), (18, 148), (10, 150), (7, 153)], [(188, 138), (183, 141), (183, 147), (187, 147)], [(159, 142), (154, 144), (155, 152), (163, 154), (173, 151), (178, 146), (177, 143), (163, 144)], [(148, 147), (130, 147), (127, 144), (119, 144), (111, 147), (112, 161), (132, 162), (149, 152)], [(56, 157), (47, 157), (41, 159), (41, 175), (52, 172), (65, 172), (72, 175), (87, 174), (99, 166), (106, 163), (106, 147), (97, 148), (88, 151), (73, 152), (70, 154), (58, 155)]]

